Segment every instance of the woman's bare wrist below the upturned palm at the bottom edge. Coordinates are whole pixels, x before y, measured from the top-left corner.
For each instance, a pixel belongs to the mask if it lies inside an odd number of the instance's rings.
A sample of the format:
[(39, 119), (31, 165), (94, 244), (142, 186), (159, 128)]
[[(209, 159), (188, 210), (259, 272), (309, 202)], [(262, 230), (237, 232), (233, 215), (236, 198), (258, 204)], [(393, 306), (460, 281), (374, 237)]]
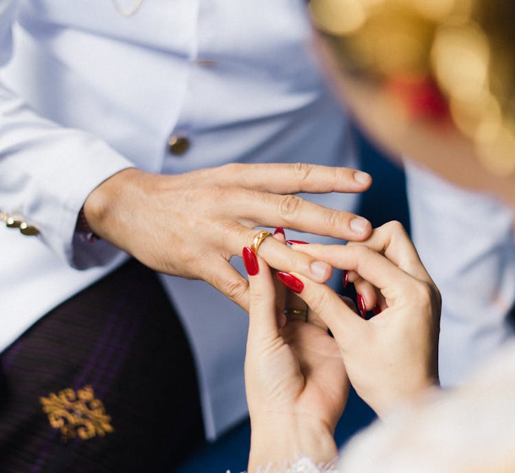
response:
[[(258, 419), (256, 419), (258, 417)], [(255, 415), (251, 419), (249, 473), (284, 470), (301, 457), (327, 464), (336, 459), (338, 449), (329, 426), (309, 415)]]

